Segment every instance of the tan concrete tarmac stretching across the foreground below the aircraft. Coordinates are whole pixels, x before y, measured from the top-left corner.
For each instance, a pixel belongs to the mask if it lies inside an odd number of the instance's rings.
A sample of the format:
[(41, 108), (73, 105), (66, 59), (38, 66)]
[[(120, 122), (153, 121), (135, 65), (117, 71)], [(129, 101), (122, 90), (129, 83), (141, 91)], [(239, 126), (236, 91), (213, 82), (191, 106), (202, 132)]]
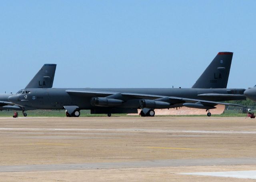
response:
[(255, 138), (243, 117), (0, 117), (0, 181), (254, 181)]

